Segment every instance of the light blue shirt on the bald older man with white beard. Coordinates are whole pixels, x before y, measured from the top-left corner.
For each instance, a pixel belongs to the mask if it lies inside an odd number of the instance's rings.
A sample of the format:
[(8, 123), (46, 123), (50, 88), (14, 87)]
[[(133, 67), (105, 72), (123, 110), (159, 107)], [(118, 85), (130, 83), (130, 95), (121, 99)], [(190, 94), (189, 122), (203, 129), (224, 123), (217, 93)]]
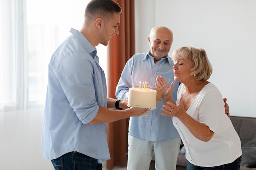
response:
[[(149, 53), (135, 54), (126, 63), (117, 84), (116, 96), (118, 99), (126, 99), (129, 87), (139, 86), (139, 81), (148, 82), (148, 86), (155, 87), (157, 76), (163, 76), (168, 85), (174, 82), (173, 62), (166, 56), (154, 62)], [(179, 82), (175, 82), (173, 99), (176, 101)], [(129, 135), (146, 139), (148, 141), (160, 141), (180, 137), (170, 116), (162, 116), (163, 99), (157, 103), (155, 110), (148, 111), (148, 116), (130, 117)]]

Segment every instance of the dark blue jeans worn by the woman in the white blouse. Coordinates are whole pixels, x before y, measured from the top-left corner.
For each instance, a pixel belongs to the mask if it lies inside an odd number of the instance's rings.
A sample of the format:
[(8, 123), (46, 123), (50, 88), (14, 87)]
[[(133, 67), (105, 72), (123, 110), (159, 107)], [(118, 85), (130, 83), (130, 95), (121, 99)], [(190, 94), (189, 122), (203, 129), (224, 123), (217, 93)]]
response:
[(227, 163), (221, 166), (214, 166), (214, 167), (194, 166), (189, 161), (187, 161), (186, 170), (239, 170), (241, 159), (242, 159), (242, 156), (240, 156), (238, 159), (236, 159), (232, 163)]

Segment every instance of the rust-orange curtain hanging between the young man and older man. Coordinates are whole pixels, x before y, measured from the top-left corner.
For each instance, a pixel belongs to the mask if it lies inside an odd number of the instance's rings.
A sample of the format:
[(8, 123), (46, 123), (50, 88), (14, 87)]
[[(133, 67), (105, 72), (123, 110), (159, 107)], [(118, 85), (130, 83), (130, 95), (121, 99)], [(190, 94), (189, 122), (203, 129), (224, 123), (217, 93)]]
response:
[[(132, 55), (135, 54), (135, 17), (134, 0), (114, 0), (121, 9), (119, 35), (113, 36), (107, 48), (108, 97), (115, 97), (115, 90), (121, 72)], [(107, 124), (107, 139), (111, 159), (107, 161), (107, 168), (126, 165), (128, 152), (128, 122), (123, 119)]]

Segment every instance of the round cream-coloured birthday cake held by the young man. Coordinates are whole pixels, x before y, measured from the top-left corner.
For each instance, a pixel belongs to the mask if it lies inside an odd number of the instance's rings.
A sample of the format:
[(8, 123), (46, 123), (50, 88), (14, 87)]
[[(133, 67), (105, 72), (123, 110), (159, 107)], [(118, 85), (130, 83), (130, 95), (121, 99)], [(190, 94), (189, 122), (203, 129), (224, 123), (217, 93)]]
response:
[(128, 92), (128, 107), (156, 109), (157, 91), (150, 88), (130, 87)]

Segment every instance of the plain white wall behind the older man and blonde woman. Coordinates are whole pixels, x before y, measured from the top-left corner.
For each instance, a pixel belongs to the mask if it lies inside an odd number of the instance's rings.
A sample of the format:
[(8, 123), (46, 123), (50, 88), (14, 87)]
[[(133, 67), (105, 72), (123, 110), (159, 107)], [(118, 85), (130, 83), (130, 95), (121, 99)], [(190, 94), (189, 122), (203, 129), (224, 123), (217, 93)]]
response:
[(136, 53), (149, 50), (152, 27), (167, 26), (174, 34), (169, 55), (181, 46), (205, 49), (209, 81), (228, 99), (231, 115), (256, 117), (255, 9), (255, 0), (135, 0)]

